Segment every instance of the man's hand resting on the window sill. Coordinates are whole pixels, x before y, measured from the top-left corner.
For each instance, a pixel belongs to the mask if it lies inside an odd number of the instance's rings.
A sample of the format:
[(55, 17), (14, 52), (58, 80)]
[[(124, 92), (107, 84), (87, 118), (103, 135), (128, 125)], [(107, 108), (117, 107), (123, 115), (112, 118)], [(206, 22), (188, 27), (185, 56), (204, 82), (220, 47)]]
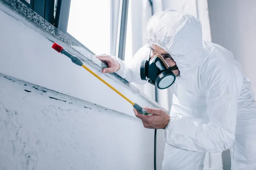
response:
[(120, 69), (120, 64), (107, 54), (96, 55), (95, 57), (108, 65), (108, 68), (102, 69), (102, 73), (114, 73)]

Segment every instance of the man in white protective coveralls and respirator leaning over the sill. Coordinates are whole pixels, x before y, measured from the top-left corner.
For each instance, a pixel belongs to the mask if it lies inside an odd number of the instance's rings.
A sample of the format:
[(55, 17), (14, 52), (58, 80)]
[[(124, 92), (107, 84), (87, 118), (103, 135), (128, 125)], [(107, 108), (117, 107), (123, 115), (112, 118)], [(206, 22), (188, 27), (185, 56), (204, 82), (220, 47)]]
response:
[(233, 54), (202, 41), (201, 23), (189, 14), (157, 13), (145, 32), (148, 45), (131, 63), (96, 57), (108, 64), (103, 73), (172, 89), (169, 115), (155, 108), (145, 108), (152, 115), (134, 110), (144, 127), (164, 129), (163, 170), (202, 170), (206, 152), (227, 149), (232, 170), (256, 170), (256, 102)]

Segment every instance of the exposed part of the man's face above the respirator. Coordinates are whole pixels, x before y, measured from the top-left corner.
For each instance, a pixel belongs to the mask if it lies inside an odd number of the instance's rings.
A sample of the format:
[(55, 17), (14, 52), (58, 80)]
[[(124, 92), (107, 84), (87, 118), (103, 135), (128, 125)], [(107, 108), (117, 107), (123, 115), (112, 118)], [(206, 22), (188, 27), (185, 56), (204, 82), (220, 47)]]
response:
[[(151, 48), (151, 56), (150, 57), (154, 57), (155, 55), (158, 54), (158, 55), (162, 56), (166, 60), (166, 62), (168, 63), (168, 65), (170, 67), (176, 65), (176, 62), (172, 59), (170, 54), (168, 54), (162, 48), (158, 47), (157, 45), (150, 45), (150, 48)], [(172, 72), (173, 72), (173, 74), (175, 74), (176, 77), (178, 75), (180, 75), (180, 71), (179, 70), (174, 70)]]

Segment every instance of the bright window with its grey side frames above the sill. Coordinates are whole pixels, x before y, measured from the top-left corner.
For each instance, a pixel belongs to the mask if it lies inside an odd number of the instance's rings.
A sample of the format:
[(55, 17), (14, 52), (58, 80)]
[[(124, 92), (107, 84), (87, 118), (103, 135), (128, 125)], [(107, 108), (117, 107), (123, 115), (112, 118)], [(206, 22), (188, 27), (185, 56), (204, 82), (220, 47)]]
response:
[(122, 3), (122, 0), (58, 0), (56, 27), (92, 54), (117, 55), (122, 42), (119, 41)]

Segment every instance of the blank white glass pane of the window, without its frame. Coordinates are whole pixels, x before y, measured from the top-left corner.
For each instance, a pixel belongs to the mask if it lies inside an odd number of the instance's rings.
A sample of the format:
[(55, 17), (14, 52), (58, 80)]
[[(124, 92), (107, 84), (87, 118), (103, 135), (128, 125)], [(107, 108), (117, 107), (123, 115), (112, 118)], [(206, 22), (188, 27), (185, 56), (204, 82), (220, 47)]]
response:
[(71, 0), (67, 32), (95, 54), (110, 54), (111, 0)]

